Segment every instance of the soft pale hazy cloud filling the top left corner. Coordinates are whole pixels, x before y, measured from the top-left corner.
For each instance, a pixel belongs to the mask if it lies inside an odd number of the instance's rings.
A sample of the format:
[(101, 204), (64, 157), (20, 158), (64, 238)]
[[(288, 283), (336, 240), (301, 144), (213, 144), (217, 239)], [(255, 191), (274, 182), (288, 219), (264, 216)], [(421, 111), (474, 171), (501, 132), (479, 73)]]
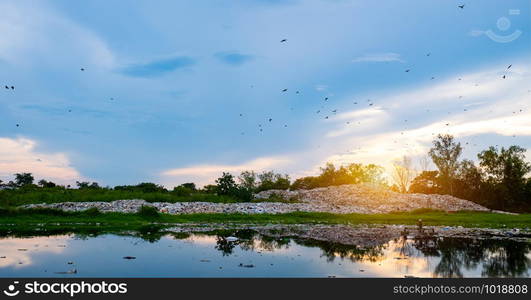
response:
[(0, 3), (0, 32), (0, 60), (17, 66), (114, 65), (114, 56), (102, 39), (42, 3)]

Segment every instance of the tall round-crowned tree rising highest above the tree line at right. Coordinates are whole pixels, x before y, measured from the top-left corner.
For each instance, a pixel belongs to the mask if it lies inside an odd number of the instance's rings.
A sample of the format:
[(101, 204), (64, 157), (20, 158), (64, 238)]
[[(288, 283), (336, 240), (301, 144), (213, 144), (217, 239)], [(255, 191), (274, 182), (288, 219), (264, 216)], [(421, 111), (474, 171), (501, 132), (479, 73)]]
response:
[(433, 141), (429, 155), (439, 169), (439, 179), (443, 193), (453, 194), (453, 185), (459, 168), (459, 156), (463, 149), (449, 134), (439, 134)]

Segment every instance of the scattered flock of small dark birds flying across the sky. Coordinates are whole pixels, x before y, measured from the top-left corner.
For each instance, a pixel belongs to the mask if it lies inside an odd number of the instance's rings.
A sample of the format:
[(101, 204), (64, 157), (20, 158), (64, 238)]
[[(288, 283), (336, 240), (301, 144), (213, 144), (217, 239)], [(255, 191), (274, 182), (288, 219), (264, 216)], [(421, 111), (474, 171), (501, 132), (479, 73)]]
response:
[[(464, 8), (465, 8), (465, 4), (458, 5), (458, 8), (459, 8), (459, 9), (464, 9)], [(280, 43), (287, 43), (287, 42), (288, 42), (288, 39), (287, 39), (287, 38), (283, 38), (283, 39), (280, 40)], [(432, 56), (432, 53), (431, 53), (431, 52), (426, 53), (426, 57), (431, 57), (431, 56)], [(512, 67), (512, 64), (508, 65), (506, 71), (508, 71), (509, 69), (511, 69), (511, 67)], [(86, 69), (85, 69), (84, 67), (81, 67), (79, 70), (80, 70), (81, 72), (85, 72), (85, 71), (86, 71)], [(412, 73), (412, 71), (413, 71), (412, 68), (407, 68), (407, 69), (404, 70), (405, 73)], [(507, 74), (507, 72), (506, 72), (505, 74), (503, 74), (503, 75), (501, 76), (501, 78), (502, 78), (502, 79), (507, 79), (507, 76), (508, 76), (508, 74)], [(436, 78), (435, 76), (431, 76), (430, 80), (435, 80), (435, 78)], [(458, 78), (458, 80), (461, 81), (462, 79), (461, 79), (461, 78)], [(478, 84), (476, 83), (475, 86), (478, 86)], [(14, 86), (14, 85), (5, 85), (4, 87), (5, 87), (5, 90), (9, 90), (9, 91), (14, 91), (14, 90), (15, 90), (15, 86)], [(254, 87), (254, 85), (251, 85), (251, 88), (253, 88), (253, 87)], [(288, 93), (288, 91), (289, 91), (288, 88), (283, 88), (283, 89), (280, 90), (281, 93)], [(297, 94), (297, 95), (298, 95), (298, 94), (301, 94), (300, 90), (295, 90), (295, 94)], [(330, 116), (332, 116), (332, 115), (336, 115), (336, 114), (338, 113), (338, 109), (337, 109), (337, 108), (330, 109), (330, 110), (328, 110), (328, 111), (325, 112), (325, 110), (326, 110), (326, 106), (325, 106), (325, 105), (328, 104), (328, 103), (330, 103), (330, 102), (329, 102), (330, 97), (331, 97), (330, 95), (329, 95), (329, 96), (325, 96), (325, 97), (323, 97), (323, 98), (322, 98), (322, 100), (323, 100), (323, 104), (322, 104), (322, 105), (320, 106), (320, 108), (315, 112), (317, 115), (322, 115), (322, 116), (323, 116), (322, 118), (325, 119), (325, 120), (326, 120), (326, 119), (329, 119)], [(463, 98), (463, 96), (459, 96), (459, 99), (461, 99), (461, 98)], [(114, 97), (111, 97), (111, 98), (109, 98), (109, 99), (110, 99), (111, 101), (113, 101), (113, 100), (114, 100)], [(354, 105), (358, 105), (358, 104), (361, 104), (361, 102), (359, 102), (359, 101), (353, 101), (353, 104), (354, 104)], [(367, 101), (366, 101), (366, 105), (367, 105), (367, 107), (370, 108), (370, 107), (373, 107), (373, 106), (375, 105), (375, 102), (372, 101), (371, 99), (367, 99)], [(290, 108), (290, 109), (293, 110), (293, 108)], [(385, 108), (379, 106), (379, 109), (385, 109)], [(468, 109), (467, 109), (467, 108), (464, 108), (463, 111), (464, 111), (464, 112), (467, 112)], [(68, 112), (71, 113), (71, 112), (72, 112), (72, 109), (68, 109)], [(426, 112), (430, 112), (430, 109), (426, 109)], [(521, 112), (523, 112), (523, 110), (520, 109), (520, 110), (518, 110), (518, 111), (513, 112), (513, 114), (516, 114), (516, 113), (518, 113), (518, 112), (521, 113)], [(451, 114), (451, 112), (448, 112), (448, 114)], [(244, 117), (244, 113), (240, 113), (240, 114), (239, 114), (239, 117), (243, 118), (243, 117)], [(265, 124), (273, 123), (273, 121), (274, 121), (274, 120), (273, 120), (272, 117), (266, 117), (264, 123), (259, 123), (259, 124), (258, 124), (258, 131), (259, 131), (259, 132), (263, 132), (263, 131), (264, 131), (264, 128), (265, 128)], [(404, 120), (404, 123), (407, 123), (407, 122), (408, 122), (407, 119)], [(352, 121), (352, 120), (351, 120), (351, 121), (346, 121), (346, 124), (347, 124), (347, 125), (351, 125), (351, 124), (358, 124), (358, 125), (361, 125), (361, 122), (360, 122), (360, 121)], [(450, 126), (450, 125), (451, 125), (450, 123), (445, 123), (445, 126)], [(16, 126), (16, 127), (20, 127), (21, 125), (20, 125), (20, 123), (17, 123), (17, 124), (15, 124), (15, 126)], [(283, 124), (283, 127), (284, 127), (284, 128), (287, 128), (287, 127), (288, 127), (288, 124)], [(405, 127), (404, 130), (407, 130), (407, 127)], [(432, 135), (434, 135), (434, 136), (435, 136), (435, 134), (436, 134), (436, 133), (432, 133)], [(242, 131), (242, 132), (241, 132), (241, 135), (245, 135), (245, 131)], [(401, 135), (404, 135), (404, 131), (401, 132)], [(394, 143), (398, 143), (398, 141), (395, 140)], [(466, 144), (468, 144), (468, 142), (467, 142)], [(406, 146), (407, 146), (407, 144), (406, 144)], [(318, 147), (320, 147), (320, 146), (318, 146)], [(358, 148), (358, 150), (360, 150), (360, 149), (361, 149), (361, 148)], [(353, 153), (353, 150), (347, 150), (347, 152), (348, 152), (348, 153)]]

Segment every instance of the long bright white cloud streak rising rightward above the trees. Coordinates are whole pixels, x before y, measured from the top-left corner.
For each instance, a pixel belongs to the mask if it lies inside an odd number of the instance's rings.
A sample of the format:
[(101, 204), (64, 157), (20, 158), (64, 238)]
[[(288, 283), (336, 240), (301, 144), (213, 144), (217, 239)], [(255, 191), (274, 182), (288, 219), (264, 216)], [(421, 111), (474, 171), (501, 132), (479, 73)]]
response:
[[(202, 183), (212, 183), (222, 171), (280, 168), (292, 178), (298, 178), (315, 175), (326, 162), (374, 163), (390, 172), (393, 162), (404, 155), (412, 158), (425, 156), (431, 141), (439, 133), (453, 134), (459, 139), (482, 134), (531, 136), (531, 92), (528, 87), (531, 72), (527, 71), (530, 69), (528, 63), (515, 63), (510, 72), (506, 66), (496, 66), (456, 75), (439, 83), (431, 82), (413, 90), (389, 93), (374, 100), (379, 103), (377, 106), (346, 111), (323, 120), (323, 126), (329, 126), (329, 130), (314, 137), (315, 147), (236, 165), (178, 168), (166, 171), (164, 176), (180, 176), (179, 182), (199, 179)], [(502, 75), (507, 79), (502, 79)], [(346, 98), (344, 102), (351, 103), (352, 99)], [(452, 114), (448, 114), (448, 110), (452, 110)], [(415, 125), (408, 125), (408, 128), (397, 125), (397, 122), (404, 121), (405, 114)], [(426, 118), (428, 114), (433, 114), (433, 118)], [(492, 140), (492, 144), (496, 143)], [(176, 183), (175, 180), (172, 183)]]

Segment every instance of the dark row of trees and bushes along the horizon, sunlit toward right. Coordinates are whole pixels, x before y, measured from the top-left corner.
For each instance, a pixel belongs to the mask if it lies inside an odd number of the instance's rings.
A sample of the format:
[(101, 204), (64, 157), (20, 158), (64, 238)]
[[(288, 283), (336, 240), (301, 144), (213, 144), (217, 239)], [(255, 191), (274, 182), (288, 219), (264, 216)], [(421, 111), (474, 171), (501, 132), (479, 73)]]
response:
[[(508, 148), (489, 147), (477, 154), (478, 163), (460, 159), (461, 143), (451, 135), (438, 135), (432, 143), (427, 157), (420, 160), (421, 169), (416, 170), (412, 160), (404, 157), (395, 162), (392, 172), (393, 184), (389, 185), (385, 169), (375, 164), (351, 163), (335, 166), (327, 163), (317, 176), (306, 176), (291, 181), (287, 174), (265, 171), (243, 171), (238, 176), (223, 172), (214, 184), (198, 188), (194, 183), (183, 183), (168, 190), (155, 183), (101, 187), (97, 182), (76, 182), (76, 189), (60, 186), (51, 181), (35, 179), (31, 173), (17, 173), (13, 181), (0, 181), (0, 200), (6, 191), (28, 193), (43, 190), (47, 193), (65, 190), (85, 192), (94, 195), (105, 192), (107, 198), (137, 197), (138, 194), (153, 196), (160, 201), (174, 201), (177, 197), (195, 197), (197, 201), (220, 201), (213, 195), (251, 201), (253, 194), (271, 189), (313, 189), (344, 184), (372, 183), (401, 193), (448, 194), (467, 199), (492, 209), (531, 211), (531, 179), (527, 174), (531, 164), (525, 160), (526, 149), (519, 146)], [(436, 170), (430, 170), (433, 163)], [(91, 192), (91, 193), (89, 193)], [(112, 194), (114, 192), (114, 196)], [(39, 197), (45, 197), (41, 195)], [(89, 197), (89, 196), (86, 196)], [(124, 199), (124, 198), (121, 198)], [(206, 200), (205, 200), (206, 199)], [(225, 201), (223, 200), (223, 201)]]

